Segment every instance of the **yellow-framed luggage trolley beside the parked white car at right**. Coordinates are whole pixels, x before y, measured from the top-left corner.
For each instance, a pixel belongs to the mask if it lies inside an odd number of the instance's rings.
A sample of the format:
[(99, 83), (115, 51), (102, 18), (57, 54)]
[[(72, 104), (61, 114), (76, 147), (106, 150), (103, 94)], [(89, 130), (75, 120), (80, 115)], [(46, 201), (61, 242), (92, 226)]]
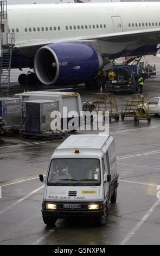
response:
[(151, 122), (148, 96), (146, 94), (133, 94), (132, 100), (127, 101), (125, 109), (121, 109), (121, 120), (125, 117), (134, 117), (135, 123), (139, 124), (139, 120), (146, 119), (148, 123)]

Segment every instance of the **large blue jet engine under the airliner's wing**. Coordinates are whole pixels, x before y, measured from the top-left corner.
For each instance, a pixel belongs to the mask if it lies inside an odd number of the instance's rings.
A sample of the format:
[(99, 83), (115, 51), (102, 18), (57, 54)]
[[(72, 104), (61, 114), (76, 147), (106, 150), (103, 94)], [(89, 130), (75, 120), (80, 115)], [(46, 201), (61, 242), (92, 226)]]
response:
[(34, 68), (43, 84), (79, 84), (97, 75), (103, 68), (103, 59), (87, 44), (63, 42), (40, 48)]

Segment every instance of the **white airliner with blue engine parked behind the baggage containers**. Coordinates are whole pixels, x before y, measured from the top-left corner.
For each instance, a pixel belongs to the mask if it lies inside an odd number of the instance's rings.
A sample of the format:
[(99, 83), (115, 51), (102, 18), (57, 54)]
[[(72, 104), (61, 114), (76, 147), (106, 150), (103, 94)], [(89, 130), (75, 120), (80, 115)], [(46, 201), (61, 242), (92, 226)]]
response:
[(11, 68), (34, 69), (47, 86), (100, 87), (110, 59), (157, 53), (160, 3), (9, 5), (8, 29), (15, 33)]

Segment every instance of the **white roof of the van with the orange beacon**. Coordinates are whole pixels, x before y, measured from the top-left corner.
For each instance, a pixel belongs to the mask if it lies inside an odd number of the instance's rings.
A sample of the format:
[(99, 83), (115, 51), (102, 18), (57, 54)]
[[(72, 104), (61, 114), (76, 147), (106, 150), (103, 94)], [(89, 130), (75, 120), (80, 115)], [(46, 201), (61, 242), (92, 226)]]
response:
[(98, 134), (71, 135), (57, 148), (57, 150), (71, 148), (101, 149), (104, 146), (104, 144), (106, 144), (109, 137), (111, 136), (101, 136)]

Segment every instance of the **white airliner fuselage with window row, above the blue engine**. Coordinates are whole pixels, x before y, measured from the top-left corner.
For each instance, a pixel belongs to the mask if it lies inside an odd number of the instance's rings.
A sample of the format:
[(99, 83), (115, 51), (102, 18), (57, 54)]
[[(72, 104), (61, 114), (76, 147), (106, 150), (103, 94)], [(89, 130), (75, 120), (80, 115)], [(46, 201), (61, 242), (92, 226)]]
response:
[(35, 54), (44, 45), (84, 42), (85, 37), (91, 38), (86, 43), (109, 58), (155, 54), (159, 38), (149, 38), (147, 44), (136, 36), (126, 41), (92, 38), (160, 28), (160, 3), (9, 5), (8, 27), (15, 33), (12, 68), (34, 68)]

